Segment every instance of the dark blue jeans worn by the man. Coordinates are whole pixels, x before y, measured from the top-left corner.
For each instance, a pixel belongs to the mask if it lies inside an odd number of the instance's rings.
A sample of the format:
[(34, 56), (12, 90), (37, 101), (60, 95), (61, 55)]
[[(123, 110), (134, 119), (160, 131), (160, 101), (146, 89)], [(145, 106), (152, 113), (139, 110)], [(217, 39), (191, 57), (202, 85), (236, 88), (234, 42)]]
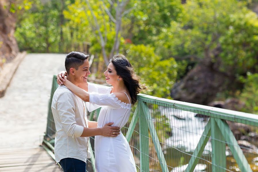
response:
[(61, 165), (64, 172), (85, 172), (86, 163), (75, 158), (64, 158), (61, 159), (59, 164)]

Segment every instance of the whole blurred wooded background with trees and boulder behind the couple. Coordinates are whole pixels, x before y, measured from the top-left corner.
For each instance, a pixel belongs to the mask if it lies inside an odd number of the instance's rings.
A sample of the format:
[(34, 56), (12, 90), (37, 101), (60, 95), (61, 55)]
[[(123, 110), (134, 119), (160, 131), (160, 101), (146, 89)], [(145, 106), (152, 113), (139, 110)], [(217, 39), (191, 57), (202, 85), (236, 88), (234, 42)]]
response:
[(93, 54), (92, 77), (99, 79), (122, 53), (150, 95), (204, 105), (237, 98), (245, 103), (238, 110), (258, 111), (258, 0), (13, 4), (20, 50)]

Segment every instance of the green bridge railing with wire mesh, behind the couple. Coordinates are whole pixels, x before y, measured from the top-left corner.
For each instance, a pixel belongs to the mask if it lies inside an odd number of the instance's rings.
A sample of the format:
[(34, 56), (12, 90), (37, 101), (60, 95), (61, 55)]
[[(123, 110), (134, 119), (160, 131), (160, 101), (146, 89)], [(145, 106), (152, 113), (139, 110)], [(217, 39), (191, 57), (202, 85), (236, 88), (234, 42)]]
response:
[[(43, 141), (50, 154), (55, 134), (51, 101), (57, 87), (54, 76)], [(88, 119), (96, 120), (99, 110)], [(255, 114), (138, 94), (122, 133), (137, 171), (258, 171)], [(87, 170), (95, 172), (94, 137), (90, 143)]]

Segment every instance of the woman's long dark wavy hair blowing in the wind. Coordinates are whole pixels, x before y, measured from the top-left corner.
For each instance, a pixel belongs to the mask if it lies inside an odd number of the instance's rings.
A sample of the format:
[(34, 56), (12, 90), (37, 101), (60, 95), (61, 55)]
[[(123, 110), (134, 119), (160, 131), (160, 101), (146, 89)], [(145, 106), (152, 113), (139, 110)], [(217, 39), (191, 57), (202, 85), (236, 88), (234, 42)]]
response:
[(123, 54), (114, 55), (109, 62), (114, 65), (117, 75), (123, 79), (130, 93), (132, 104), (136, 103), (137, 94), (146, 90), (147, 87), (144, 84), (140, 84), (140, 77), (136, 75), (132, 64)]

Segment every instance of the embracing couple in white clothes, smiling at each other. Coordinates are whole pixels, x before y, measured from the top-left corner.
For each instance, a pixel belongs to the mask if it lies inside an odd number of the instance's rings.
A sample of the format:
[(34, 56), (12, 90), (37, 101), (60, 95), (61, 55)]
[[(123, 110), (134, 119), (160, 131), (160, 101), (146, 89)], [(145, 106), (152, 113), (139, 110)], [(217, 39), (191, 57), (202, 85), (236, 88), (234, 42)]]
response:
[[(86, 160), (91, 157), (89, 136), (95, 136), (98, 172), (136, 172), (132, 151), (120, 129), (129, 119), (136, 95), (146, 87), (122, 54), (110, 59), (104, 72), (106, 83), (112, 87), (87, 83), (89, 68), (88, 55), (70, 52), (65, 58), (67, 73), (58, 74), (60, 86), (51, 105), (56, 162), (64, 171), (85, 172)], [(87, 120), (86, 107), (89, 112), (101, 107), (97, 122)]]

